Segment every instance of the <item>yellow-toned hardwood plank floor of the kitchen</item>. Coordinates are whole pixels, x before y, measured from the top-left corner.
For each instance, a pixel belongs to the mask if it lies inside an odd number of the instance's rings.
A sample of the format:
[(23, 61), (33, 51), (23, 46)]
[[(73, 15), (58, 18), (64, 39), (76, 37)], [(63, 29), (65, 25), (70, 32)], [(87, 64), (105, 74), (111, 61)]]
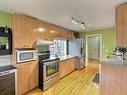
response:
[(100, 95), (99, 85), (92, 82), (98, 73), (98, 68), (91, 67), (91, 65), (89, 64), (85, 69), (72, 72), (44, 92), (37, 88), (25, 95)]

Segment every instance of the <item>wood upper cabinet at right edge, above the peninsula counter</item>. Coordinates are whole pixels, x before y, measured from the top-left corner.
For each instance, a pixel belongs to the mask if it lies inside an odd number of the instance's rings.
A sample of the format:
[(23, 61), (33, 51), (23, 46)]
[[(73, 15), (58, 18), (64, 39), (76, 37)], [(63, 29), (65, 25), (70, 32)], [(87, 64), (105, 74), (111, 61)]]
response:
[(117, 46), (127, 45), (127, 3), (116, 8)]

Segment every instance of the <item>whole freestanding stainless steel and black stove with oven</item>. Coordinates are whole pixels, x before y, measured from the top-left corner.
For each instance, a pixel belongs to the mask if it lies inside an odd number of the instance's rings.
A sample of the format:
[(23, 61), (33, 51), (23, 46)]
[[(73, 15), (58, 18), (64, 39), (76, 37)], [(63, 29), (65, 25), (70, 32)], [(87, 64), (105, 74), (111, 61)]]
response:
[(49, 52), (39, 55), (39, 88), (46, 90), (60, 80), (59, 58), (50, 57)]

